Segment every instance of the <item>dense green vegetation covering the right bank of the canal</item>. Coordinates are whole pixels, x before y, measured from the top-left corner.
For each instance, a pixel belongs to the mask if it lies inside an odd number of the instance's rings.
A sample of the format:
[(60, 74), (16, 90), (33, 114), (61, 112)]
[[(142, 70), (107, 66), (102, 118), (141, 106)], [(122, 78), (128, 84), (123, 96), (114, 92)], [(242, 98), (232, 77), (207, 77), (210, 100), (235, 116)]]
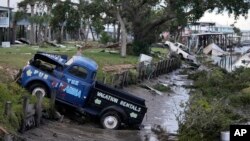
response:
[(216, 140), (235, 123), (249, 121), (250, 69), (214, 68), (190, 75), (195, 94), (178, 116), (180, 140)]

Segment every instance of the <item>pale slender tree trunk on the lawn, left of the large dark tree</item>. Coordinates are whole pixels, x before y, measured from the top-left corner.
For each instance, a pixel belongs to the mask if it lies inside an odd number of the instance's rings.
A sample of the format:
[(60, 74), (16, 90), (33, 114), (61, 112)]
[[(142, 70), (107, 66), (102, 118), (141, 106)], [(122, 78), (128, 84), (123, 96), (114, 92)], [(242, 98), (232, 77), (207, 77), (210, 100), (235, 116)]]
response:
[(119, 10), (116, 13), (117, 15), (117, 19), (119, 21), (119, 23), (121, 24), (121, 34), (122, 34), (122, 40), (121, 40), (121, 56), (122, 57), (126, 57), (127, 53), (127, 31), (126, 31), (126, 27), (125, 27), (125, 23), (120, 15)]

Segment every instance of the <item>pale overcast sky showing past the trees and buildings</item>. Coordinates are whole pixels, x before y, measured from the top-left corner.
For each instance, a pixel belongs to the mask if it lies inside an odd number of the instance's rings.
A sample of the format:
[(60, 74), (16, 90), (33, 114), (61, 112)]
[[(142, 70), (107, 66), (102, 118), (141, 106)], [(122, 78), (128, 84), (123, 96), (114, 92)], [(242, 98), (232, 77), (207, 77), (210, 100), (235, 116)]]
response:
[[(10, 0), (10, 7), (17, 9), (17, 2), (20, 1), (22, 0)], [(77, 0), (72, 0), (72, 1), (77, 1)], [(7, 0), (0, 0), (0, 6), (7, 6)], [(231, 24), (234, 23), (234, 17), (233, 16), (229, 17), (228, 14), (226, 13), (225, 14), (205, 13), (204, 16), (200, 19), (200, 21), (215, 22), (219, 25), (230, 26)], [(250, 30), (250, 14), (248, 19), (240, 17), (235, 25), (241, 30)]]

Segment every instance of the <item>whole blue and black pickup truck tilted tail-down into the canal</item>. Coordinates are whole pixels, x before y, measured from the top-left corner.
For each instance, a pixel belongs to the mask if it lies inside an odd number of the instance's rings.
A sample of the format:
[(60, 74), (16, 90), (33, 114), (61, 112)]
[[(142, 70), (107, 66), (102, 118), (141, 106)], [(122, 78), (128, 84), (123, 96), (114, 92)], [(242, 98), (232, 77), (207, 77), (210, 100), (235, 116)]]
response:
[(86, 57), (37, 52), (18, 82), (32, 95), (50, 97), (56, 91), (58, 102), (99, 118), (103, 128), (140, 125), (147, 112), (145, 100), (97, 82), (97, 69), (96, 62)]

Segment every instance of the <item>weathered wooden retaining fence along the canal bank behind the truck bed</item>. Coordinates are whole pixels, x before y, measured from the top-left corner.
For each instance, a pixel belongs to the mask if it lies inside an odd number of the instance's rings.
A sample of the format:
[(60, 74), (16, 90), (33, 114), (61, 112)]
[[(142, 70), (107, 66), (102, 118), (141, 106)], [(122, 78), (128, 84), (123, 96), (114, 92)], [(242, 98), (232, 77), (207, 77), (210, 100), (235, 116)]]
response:
[[(172, 58), (151, 63), (140, 62), (134, 67), (130, 66), (125, 67), (124, 69), (119, 66), (118, 71), (115, 71), (114, 69), (110, 69), (112, 71), (104, 69), (103, 83), (108, 83), (114, 87), (123, 88), (124, 86), (127, 86), (129, 84), (140, 83), (144, 80), (149, 80), (152, 78), (156, 78), (159, 75), (167, 74), (173, 70), (178, 69), (180, 66), (181, 60), (179, 58)], [(133, 70), (135, 71), (134, 74)], [(110, 81), (107, 81), (108, 77), (110, 77)]]

